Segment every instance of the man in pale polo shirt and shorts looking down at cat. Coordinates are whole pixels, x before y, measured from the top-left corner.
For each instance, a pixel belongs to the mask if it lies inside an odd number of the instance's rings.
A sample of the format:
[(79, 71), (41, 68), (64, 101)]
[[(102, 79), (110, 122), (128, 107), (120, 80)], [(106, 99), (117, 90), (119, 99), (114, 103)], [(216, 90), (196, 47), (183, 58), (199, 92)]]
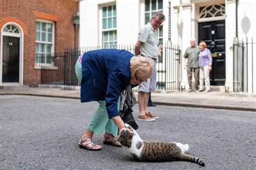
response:
[(154, 116), (147, 111), (147, 102), (149, 101), (150, 93), (156, 91), (157, 86), (157, 70), (156, 70), (156, 60), (161, 56), (160, 48), (158, 46), (157, 40), (157, 29), (164, 22), (165, 16), (161, 12), (157, 12), (150, 22), (147, 23), (142, 30), (139, 32), (138, 41), (135, 45), (135, 54), (144, 55), (151, 58), (151, 61), (154, 63), (154, 71), (151, 79), (148, 79), (147, 82), (143, 82), (139, 85), (138, 89), (138, 103), (139, 103), (139, 121), (155, 121), (158, 116)]

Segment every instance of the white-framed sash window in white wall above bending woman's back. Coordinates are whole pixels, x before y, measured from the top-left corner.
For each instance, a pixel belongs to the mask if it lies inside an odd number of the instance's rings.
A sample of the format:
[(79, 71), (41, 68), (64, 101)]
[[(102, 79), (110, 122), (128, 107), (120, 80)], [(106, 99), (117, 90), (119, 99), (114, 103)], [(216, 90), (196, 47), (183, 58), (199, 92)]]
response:
[(117, 47), (117, 11), (116, 5), (103, 7), (102, 45), (104, 48)]

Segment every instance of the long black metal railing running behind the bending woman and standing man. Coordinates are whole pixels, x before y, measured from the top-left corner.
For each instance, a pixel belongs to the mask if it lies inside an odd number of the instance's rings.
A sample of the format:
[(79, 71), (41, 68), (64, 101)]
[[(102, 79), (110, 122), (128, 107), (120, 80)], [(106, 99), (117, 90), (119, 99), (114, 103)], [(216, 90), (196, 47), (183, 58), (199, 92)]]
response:
[[(69, 48), (63, 53), (43, 56), (41, 67), (41, 84), (79, 86), (75, 73), (75, 65), (79, 55), (102, 46)], [(134, 54), (134, 45), (118, 45), (110, 48), (126, 49)], [(166, 42), (161, 51), (162, 58), (157, 62), (157, 89), (176, 90), (180, 87), (180, 50), (178, 45)], [(38, 56), (41, 57), (42, 56)], [(39, 59), (37, 59), (39, 61)]]

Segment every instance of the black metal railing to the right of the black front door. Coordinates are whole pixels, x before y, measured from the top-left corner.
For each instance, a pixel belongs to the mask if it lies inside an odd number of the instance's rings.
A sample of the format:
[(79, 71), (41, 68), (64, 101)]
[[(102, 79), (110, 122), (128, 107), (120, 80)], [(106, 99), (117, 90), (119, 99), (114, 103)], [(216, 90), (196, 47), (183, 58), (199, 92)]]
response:
[(254, 93), (254, 72), (255, 59), (253, 48), (256, 42), (253, 38), (245, 40), (234, 38), (233, 39), (233, 91)]

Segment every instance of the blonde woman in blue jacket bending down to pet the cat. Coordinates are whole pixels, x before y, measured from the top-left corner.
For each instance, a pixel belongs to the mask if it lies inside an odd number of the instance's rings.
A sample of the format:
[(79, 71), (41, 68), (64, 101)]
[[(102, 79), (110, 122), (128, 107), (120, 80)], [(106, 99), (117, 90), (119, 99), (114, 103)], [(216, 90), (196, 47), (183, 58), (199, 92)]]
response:
[(79, 56), (76, 75), (81, 82), (81, 102), (97, 101), (93, 114), (78, 145), (87, 150), (100, 150), (92, 141), (93, 133), (104, 133), (103, 143), (121, 146), (113, 135), (125, 128), (119, 116), (119, 96), (129, 84), (140, 84), (152, 76), (149, 58), (118, 49), (98, 49)]

